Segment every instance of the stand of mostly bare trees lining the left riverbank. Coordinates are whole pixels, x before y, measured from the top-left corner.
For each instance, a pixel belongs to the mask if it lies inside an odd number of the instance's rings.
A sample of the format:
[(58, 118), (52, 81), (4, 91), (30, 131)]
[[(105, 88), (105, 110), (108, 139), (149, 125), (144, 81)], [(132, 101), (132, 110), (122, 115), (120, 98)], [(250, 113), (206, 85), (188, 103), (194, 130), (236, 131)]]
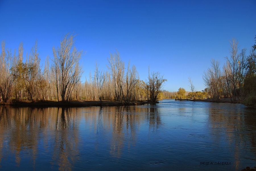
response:
[(2, 41), (0, 55), (0, 95), (1, 102), (15, 101), (71, 101), (110, 100), (129, 103), (130, 101), (158, 101), (164, 82), (159, 72), (149, 72), (148, 78), (139, 79), (136, 67), (121, 60), (118, 52), (110, 54), (108, 70), (96, 64), (94, 72), (85, 82), (81, 82), (83, 55), (74, 46), (74, 36), (65, 35), (60, 46), (53, 47), (53, 57), (40, 65), (37, 43), (23, 60), (23, 46), (20, 43), (18, 55), (5, 49)]

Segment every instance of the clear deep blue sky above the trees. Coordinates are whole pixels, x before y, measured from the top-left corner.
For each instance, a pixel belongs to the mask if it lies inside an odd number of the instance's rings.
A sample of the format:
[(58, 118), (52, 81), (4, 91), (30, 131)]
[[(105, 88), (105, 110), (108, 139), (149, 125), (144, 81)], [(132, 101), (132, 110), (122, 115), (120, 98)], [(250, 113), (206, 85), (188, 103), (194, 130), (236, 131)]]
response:
[[(224, 64), (235, 37), (248, 51), (256, 35), (256, 1), (3, 1), (0, 0), (0, 40), (7, 48), (30, 52), (38, 41), (41, 62), (52, 57), (66, 33), (76, 34), (76, 47), (86, 51), (85, 76), (97, 61), (107, 69), (109, 53), (117, 49), (135, 64), (141, 79), (148, 66), (168, 80), (164, 89), (189, 90), (191, 77), (202, 90), (203, 71), (210, 59)], [(24, 55), (25, 57), (25, 55)]]

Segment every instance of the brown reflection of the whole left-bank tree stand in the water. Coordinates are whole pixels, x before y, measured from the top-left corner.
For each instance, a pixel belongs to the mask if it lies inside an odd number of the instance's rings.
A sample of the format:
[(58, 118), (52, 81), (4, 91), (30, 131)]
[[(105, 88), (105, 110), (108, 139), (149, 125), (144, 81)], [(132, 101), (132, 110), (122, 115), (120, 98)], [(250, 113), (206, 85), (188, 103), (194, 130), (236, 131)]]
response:
[[(80, 160), (79, 144), (83, 145), (84, 140), (79, 138), (79, 126), (85, 127), (80, 130), (82, 132), (96, 132), (96, 150), (102, 143), (99, 140), (104, 130), (111, 129), (109, 153), (119, 158), (124, 145), (127, 148), (135, 145), (141, 122), (148, 122), (149, 128), (157, 128), (161, 124), (157, 107), (150, 105), (143, 108), (119, 106), (42, 109), (1, 106), (0, 112), (0, 166), (3, 164), (3, 154), (11, 152), (19, 167), (26, 152), (26, 157), (33, 166), (40, 155), (51, 154), (51, 165), (57, 166), (59, 170), (71, 170), (73, 164)], [(85, 122), (79, 125), (83, 118)], [(83, 146), (86, 147), (86, 144)]]

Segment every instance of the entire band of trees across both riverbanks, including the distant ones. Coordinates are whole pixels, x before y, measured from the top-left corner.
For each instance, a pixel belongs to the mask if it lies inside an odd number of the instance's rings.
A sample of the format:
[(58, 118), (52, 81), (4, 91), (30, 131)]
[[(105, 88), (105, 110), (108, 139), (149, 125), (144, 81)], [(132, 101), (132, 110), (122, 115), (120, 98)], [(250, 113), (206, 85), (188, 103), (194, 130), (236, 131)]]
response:
[[(256, 39), (256, 37), (255, 37)], [(107, 59), (108, 70), (96, 63), (95, 70), (82, 82), (82, 66), (79, 61), (84, 55), (74, 46), (74, 36), (65, 35), (59, 47), (53, 47), (51, 58), (46, 57), (42, 65), (35, 43), (24, 59), (22, 43), (16, 51), (5, 48), (1, 43), (0, 55), (0, 101), (17, 103), (24, 101), (106, 101), (135, 104), (136, 101), (155, 103), (163, 98), (212, 99), (220, 102), (229, 99), (232, 103), (244, 103), (249, 107), (256, 104), (256, 44), (247, 55), (246, 49), (239, 51), (238, 41), (230, 43), (230, 57), (221, 68), (220, 62), (212, 59), (210, 68), (204, 72), (206, 88), (196, 91), (188, 78), (190, 91), (180, 87), (177, 92), (163, 91), (167, 81), (159, 72), (150, 72), (148, 78), (140, 80), (136, 67), (125, 64), (118, 51)]]

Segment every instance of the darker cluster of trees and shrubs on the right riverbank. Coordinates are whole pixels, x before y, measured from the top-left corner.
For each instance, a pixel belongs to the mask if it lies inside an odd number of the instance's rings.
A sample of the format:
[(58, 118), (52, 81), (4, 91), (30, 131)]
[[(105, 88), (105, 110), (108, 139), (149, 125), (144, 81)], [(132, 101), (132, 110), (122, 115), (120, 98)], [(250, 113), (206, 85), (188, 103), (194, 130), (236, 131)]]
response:
[(256, 44), (249, 55), (246, 49), (239, 51), (236, 39), (232, 39), (230, 47), (224, 66), (221, 68), (219, 61), (212, 59), (211, 67), (204, 73), (207, 93), (214, 101), (229, 98), (231, 102), (256, 107)]

